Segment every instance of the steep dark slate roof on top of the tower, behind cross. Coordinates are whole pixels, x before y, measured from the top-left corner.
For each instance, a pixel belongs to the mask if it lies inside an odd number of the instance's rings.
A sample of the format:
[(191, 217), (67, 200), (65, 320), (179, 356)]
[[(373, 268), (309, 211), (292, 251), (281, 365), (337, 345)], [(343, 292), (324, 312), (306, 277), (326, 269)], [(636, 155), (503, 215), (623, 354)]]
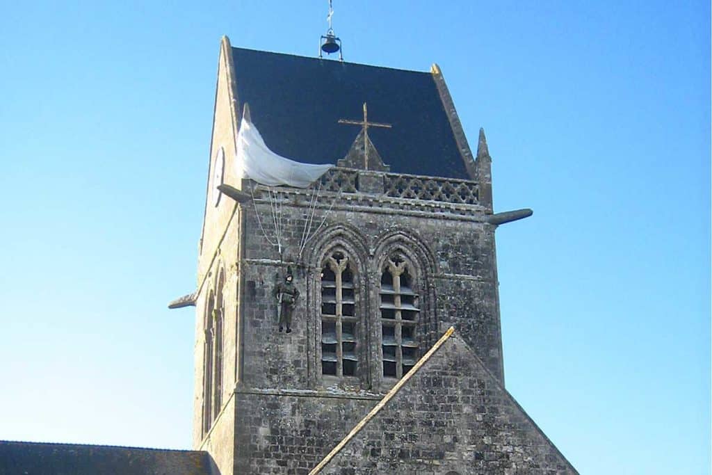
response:
[[(232, 48), (237, 100), (274, 152), (336, 163), (360, 132), (339, 119), (392, 124), (369, 128), (391, 172), (469, 179), (431, 73)], [(240, 109), (241, 110), (241, 109)]]

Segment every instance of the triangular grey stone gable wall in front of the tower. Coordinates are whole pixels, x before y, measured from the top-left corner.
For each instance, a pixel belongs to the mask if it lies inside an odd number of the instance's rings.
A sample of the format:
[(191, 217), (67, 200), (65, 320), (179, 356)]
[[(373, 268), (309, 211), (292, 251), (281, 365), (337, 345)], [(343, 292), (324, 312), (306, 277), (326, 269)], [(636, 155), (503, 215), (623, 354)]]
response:
[(563, 475), (577, 471), (454, 335), (321, 473)]

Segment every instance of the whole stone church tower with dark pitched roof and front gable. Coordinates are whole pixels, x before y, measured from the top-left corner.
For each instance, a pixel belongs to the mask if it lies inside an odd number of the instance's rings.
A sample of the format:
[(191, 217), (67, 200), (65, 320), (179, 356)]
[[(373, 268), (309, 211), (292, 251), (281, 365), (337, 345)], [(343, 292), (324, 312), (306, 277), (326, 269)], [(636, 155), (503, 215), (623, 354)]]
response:
[[(276, 185), (300, 170), (262, 153), (332, 166)], [(224, 37), (197, 290), (172, 303), (196, 308), (194, 449), (223, 475), (576, 473), (504, 389), (495, 231), (530, 214), (493, 212), (438, 66)]]

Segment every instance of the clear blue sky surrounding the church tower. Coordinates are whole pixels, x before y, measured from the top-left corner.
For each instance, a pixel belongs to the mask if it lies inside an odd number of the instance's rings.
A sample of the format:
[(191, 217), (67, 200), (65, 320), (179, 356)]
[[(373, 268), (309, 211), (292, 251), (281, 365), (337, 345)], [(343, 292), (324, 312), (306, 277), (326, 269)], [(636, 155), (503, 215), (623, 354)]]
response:
[[(0, 439), (189, 447), (219, 39), (315, 56), (326, 1), (0, 15)], [(703, 474), (710, 7), (335, 0), (347, 61), (441, 66), (485, 127), (506, 382), (582, 474)]]

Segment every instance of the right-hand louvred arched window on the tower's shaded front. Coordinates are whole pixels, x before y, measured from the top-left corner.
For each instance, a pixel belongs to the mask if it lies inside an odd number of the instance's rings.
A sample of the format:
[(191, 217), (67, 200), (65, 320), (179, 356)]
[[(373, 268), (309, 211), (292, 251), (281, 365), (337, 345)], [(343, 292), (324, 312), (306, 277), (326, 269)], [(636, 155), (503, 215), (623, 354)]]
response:
[(381, 273), (381, 349), (383, 376), (400, 379), (418, 360), (419, 296), (414, 292), (412, 266), (392, 256)]

